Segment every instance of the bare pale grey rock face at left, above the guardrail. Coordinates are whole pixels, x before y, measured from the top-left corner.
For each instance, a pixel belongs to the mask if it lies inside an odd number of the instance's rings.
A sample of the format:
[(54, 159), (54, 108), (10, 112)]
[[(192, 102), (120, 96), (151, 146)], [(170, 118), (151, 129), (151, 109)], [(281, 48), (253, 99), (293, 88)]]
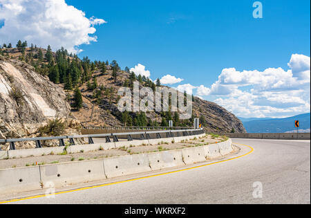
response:
[(0, 56), (0, 138), (36, 136), (49, 119), (67, 118), (65, 99), (62, 88), (32, 66)]

